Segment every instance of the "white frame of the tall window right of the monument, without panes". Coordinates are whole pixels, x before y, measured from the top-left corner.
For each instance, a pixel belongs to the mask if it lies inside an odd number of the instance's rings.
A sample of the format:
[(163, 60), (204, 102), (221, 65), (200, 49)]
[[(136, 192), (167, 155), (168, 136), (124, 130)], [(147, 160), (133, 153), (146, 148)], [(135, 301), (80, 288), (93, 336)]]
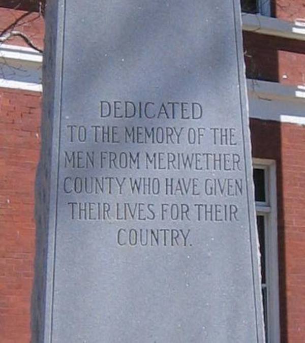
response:
[(255, 202), (256, 215), (264, 216), (267, 286), (267, 343), (280, 343), (279, 260), (276, 162), (253, 159), (253, 168), (265, 171), (265, 201)]

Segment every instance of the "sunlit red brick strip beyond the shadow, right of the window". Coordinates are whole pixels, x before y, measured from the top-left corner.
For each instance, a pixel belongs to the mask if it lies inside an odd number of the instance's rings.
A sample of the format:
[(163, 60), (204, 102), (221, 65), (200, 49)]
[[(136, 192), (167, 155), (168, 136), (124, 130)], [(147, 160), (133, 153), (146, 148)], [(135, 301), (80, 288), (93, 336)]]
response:
[(289, 342), (305, 341), (305, 127), (283, 125), (282, 194)]

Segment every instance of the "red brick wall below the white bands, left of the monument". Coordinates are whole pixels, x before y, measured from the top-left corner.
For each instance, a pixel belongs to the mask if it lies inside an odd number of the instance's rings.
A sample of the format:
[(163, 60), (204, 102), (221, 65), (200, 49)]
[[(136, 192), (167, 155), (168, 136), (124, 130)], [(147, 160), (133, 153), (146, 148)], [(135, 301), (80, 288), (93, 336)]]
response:
[(25, 343), (35, 254), (39, 93), (0, 88), (0, 341)]

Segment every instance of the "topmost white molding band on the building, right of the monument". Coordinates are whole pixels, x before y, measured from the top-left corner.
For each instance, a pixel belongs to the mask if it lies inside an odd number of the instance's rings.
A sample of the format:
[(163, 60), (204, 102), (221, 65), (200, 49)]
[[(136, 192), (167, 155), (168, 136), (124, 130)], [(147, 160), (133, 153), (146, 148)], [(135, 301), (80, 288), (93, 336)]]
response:
[(242, 29), (262, 35), (305, 41), (305, 26), (302, 20), (291, 23), (260, 14), (242, 13)]

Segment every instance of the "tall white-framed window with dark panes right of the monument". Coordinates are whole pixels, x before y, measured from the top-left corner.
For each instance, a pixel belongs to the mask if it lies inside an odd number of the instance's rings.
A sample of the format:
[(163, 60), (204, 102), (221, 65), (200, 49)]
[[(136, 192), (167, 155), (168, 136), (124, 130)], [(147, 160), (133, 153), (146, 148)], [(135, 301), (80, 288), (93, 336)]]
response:
[(276, 164), (254, 160), (256, 220), (267, 343), (280, 342)]

